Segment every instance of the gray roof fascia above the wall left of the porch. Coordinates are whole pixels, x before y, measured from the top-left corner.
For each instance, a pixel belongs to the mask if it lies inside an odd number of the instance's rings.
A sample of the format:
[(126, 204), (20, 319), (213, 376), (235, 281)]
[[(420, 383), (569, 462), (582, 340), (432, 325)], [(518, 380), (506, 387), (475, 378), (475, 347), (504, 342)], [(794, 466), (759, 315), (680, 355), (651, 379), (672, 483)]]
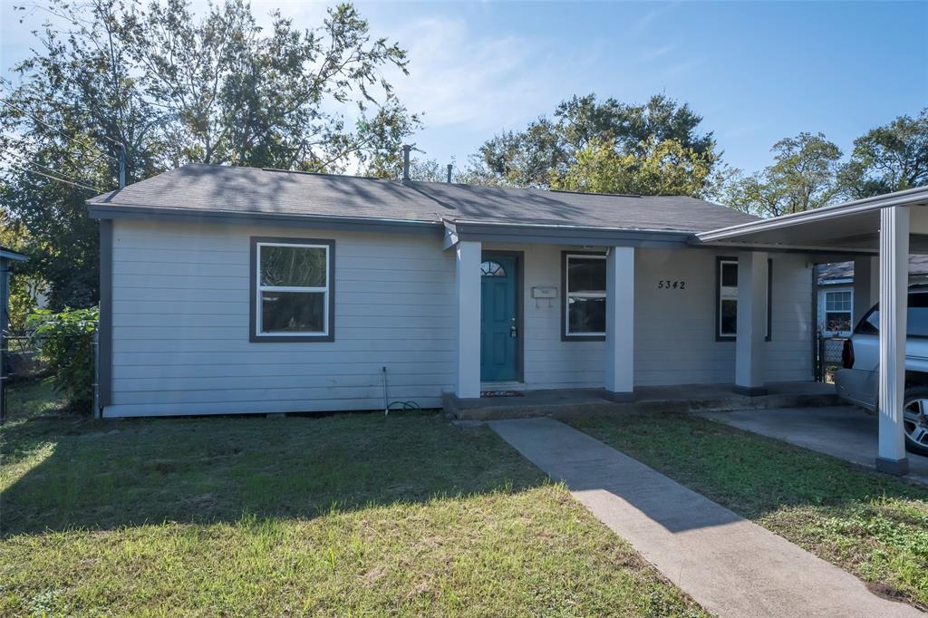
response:
[(297, 224), (320, 229), (354, 231), (403, 231), (437, 235), (442, 224), (435, 221), (407, 221), (404, 219), (378, 219), (320, 214), (281, 214), (277, 212), (198, 211), (187, 208), (156, 208), (152, 206), (110, 206), (88, 202), (94, 219), (121, 219), (135, 221), (175, 221), (198, 223), (251, 222), (261, 224)]

